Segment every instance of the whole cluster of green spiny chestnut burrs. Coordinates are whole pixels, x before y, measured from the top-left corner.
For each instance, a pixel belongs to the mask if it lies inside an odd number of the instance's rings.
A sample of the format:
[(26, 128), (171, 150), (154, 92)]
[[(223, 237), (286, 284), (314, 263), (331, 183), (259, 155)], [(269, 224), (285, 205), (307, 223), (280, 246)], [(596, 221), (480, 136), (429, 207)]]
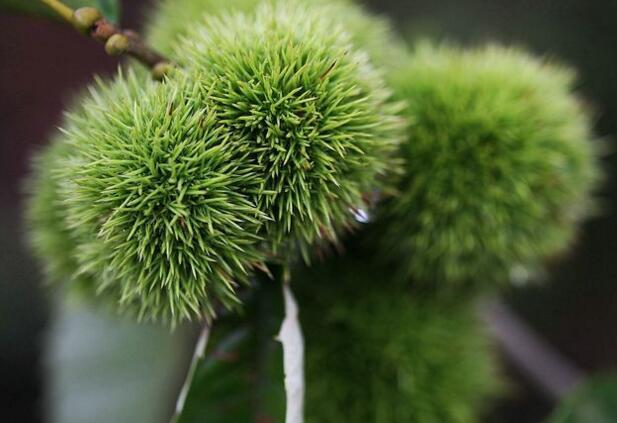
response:
[[(567, 67), (410, 50), (329, 3), (163, 1), (146, 38), (174, 65), (67, 113), (35, 162), (33, 246), (71, 291), (171, 323), (295, 266), (309, 417), (473, 421), (496, 383), (472, 299), (575, 239), (600, 175), (589, 113)], [(311, 260), (328, 244), (346, 250)]]

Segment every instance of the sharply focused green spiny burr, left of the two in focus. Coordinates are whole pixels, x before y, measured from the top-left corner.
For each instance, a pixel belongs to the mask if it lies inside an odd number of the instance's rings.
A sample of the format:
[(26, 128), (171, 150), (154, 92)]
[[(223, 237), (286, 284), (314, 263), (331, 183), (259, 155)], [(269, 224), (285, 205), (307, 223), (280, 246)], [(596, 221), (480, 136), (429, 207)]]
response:
[(264, 217), (242, 194), (259, 172), (232, 154), (211, 95), (180, 73), (165, 84), (129, 73), (99, 82), (68, 115), (57, 181), (78, 273), (143, 319), (231, 307), (261, 265)]

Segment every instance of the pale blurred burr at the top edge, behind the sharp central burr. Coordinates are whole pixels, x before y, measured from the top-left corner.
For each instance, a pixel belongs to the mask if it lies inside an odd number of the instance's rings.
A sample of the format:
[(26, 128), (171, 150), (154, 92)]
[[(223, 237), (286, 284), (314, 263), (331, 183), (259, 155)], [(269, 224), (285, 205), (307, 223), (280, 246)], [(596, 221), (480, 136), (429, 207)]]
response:
[[(294, 1), (294, 0), (292, 0)], [(393, 66), (407, 56), (404, 42), (394, 35), (390, 23), (370, 14), (349, 0), (305, 0), (297, 3), (318, 8), (325, 19), (336, 19), (350, 35), (354, 47), (366, 51), (377, 66)], [(161, 0), (153, 8), (146, 26), (146, 39), (165, 54), (186, 37), (204, 16), (254, 13), (262, 0)]]

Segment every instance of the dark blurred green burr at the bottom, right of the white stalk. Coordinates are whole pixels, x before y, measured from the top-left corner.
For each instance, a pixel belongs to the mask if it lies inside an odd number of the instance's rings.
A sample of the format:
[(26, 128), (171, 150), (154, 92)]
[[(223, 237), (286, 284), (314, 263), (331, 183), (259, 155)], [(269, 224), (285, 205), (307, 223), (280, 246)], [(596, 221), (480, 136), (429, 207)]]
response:
[(349, 243), (292, 277), (307, 422), (479, 421), (501, 382), (473, 301), (392, 283), (376, 253)]

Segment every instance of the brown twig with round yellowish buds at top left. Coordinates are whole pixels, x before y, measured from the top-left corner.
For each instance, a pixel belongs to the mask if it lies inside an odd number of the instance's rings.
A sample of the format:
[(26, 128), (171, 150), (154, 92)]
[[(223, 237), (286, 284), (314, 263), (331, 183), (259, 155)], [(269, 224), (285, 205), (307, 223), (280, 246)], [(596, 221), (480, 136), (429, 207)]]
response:
[(60, 0), (41, 0), (62, 19), (82, 34), (105, 45), (105, 51), (112, 56), (126, 54), (137, 59), (152, 71), (152, 76), (161, 80), (174, 64), (160, 53), (146, 45), (134, 31), (122, 30), (103, 17), (92, 7), (72, 9)]

